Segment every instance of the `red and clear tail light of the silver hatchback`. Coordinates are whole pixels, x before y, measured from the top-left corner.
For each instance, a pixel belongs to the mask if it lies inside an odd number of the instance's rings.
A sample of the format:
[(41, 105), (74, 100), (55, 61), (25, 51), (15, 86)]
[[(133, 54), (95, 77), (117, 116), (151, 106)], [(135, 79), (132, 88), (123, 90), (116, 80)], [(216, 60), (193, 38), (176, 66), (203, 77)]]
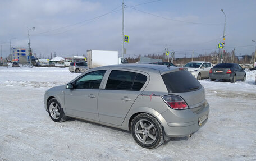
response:
[(188, 109), (185, 100), (177, 95), (166, 95), (162, 97), (164, 102), (172, 109)]

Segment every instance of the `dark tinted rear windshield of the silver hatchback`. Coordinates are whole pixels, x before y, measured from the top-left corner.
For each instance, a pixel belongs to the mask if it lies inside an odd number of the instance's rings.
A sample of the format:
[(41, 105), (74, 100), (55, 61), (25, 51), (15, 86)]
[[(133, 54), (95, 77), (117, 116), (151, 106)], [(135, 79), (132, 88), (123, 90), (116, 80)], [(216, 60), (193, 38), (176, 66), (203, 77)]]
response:
[(170, 72), (162, 75), (162, 79), (168, 92), (181, 93), (195, 91), (202, 88), (202, 85), (187, 70)]

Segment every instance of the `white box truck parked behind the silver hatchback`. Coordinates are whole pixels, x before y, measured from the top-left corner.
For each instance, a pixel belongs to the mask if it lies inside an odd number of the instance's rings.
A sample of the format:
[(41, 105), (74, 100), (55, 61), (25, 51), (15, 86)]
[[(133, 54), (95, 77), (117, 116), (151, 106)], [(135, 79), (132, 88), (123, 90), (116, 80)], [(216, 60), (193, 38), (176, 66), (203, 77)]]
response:
[(88, 68), (128, 63), (124, 58), (118, 58), (118, 51), (87, 50), (87, 57)]

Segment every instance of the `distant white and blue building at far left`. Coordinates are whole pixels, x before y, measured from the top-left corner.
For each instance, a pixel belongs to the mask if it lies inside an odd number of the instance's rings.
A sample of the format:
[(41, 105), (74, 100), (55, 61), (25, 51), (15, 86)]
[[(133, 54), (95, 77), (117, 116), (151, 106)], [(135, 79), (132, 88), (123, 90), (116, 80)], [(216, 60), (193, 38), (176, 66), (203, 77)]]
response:
[[(31, 56), (31, 61), (33, 61), (34, 59), (35, 57)], [(25, 48), (20, 48), (20, 47), (12, 47), (12, 61), (19, 62), (19, 63), (28, 63), (29, 50)]]

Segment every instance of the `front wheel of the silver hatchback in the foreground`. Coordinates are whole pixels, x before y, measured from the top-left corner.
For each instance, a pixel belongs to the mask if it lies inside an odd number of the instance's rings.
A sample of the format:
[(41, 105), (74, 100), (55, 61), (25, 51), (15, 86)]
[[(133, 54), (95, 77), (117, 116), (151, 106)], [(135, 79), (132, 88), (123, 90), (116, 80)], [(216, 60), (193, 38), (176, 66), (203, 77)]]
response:
[(67, 119), (65, 114), (63, 113), (61, 104), (58, 102), (57, 99), (52, 98), (51, 100), (49, 100), (47, 108), (48, 108), (49, 116), (51, 117), (52, 121), (63, 122)]

